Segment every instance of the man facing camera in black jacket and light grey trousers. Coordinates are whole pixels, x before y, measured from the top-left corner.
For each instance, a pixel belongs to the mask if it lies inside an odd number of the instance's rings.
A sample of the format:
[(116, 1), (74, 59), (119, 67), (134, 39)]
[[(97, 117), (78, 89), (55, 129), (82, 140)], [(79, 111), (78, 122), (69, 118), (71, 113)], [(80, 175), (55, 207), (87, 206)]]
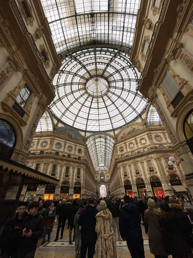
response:
[(115, 234), (115, 238), (116, 238), (116, 226), (117, 226), (118, 240), (122, 241), (122, 239), (120, 237), (120, 232), (119, 232), (120, 204), (118, 203), (118, 201), (115, 200), (114, 196), (112, 196), (111, 202), (108, 204), (107, 208), (110, 210), (110, 212), (112, 214), (112, 228), (113, 228), (113, 231)]

